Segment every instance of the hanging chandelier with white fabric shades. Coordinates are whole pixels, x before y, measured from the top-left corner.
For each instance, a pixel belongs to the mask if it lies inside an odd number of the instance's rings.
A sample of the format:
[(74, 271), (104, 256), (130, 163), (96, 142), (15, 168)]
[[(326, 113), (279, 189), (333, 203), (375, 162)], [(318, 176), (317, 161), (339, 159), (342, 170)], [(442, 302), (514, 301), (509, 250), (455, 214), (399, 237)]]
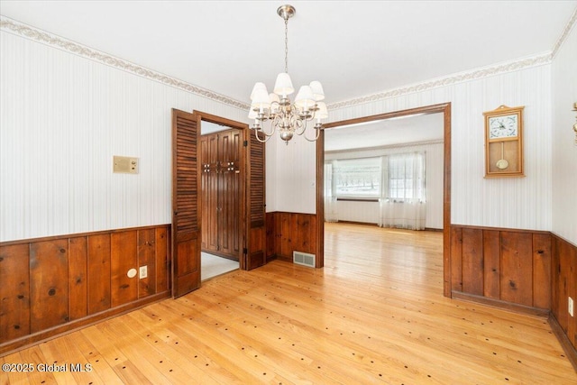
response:
[[(278, 130), (280, 139), (289, 144), (292, 137), (303, 135), (308, 142), (315, 142), (323, 128), (322, 119), (328, 117), (325, 92), (320, 82), (313, 81), (308, 86), (298, 89), (295, 102), (291, 103), (289, 95), (295, 92), (289, 77), (289, 19), (297, 11), (292, 5), (281, 5), (277, 14), (285, 21), (285, 71), (279, 73), (271, 94), (264, 83), (256, 83), (251, 93), (251, 110), (249, 118), (254, 119), (252, 129), (259, 142), (267, 142)], [(312, 138), (307, 137), (307, 123), (316, 121)], [(263, 127), (268, 122), (270, 127)], [(309, 130), (310, 131), (310, 130)]]

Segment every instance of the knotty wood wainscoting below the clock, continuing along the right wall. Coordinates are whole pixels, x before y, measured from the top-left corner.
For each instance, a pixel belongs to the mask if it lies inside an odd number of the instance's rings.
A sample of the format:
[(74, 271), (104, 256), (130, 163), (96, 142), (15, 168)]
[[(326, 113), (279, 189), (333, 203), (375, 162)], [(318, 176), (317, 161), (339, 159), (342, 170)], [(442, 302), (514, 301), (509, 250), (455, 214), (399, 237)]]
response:
[(577, 246), (544, 231), (451, 226), (452, 297), (549, 315), (577, 369)]

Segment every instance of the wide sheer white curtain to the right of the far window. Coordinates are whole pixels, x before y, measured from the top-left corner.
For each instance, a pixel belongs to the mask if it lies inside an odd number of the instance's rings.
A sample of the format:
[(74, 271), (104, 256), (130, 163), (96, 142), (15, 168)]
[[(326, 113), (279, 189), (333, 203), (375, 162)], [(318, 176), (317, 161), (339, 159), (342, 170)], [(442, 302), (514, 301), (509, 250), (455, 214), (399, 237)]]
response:
[(425, 229), (425, 154), (411, 152), (383, 157), (386, 188), (380, 197), (381, 227)]

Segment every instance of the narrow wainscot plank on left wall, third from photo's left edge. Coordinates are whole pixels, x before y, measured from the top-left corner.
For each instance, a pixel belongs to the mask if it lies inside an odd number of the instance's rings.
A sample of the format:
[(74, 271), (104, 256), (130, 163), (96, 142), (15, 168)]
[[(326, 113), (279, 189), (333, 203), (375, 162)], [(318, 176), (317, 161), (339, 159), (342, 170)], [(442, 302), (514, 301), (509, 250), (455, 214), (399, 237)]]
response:
[(69, 239), (69, 311), (70, 320), (87, 316), (87, 237)]

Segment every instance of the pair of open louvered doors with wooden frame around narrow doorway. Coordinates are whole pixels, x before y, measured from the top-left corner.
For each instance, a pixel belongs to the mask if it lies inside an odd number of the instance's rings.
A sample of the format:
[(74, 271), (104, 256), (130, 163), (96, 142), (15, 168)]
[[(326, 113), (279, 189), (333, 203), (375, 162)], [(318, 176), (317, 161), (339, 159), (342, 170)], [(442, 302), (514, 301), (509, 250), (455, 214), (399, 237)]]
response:
[(243, 133), (240, 170), (241, 205), (238, 220), (243, 229), (241, 270), (256, 269), (266, 263), (265, 147), (248, 124), (216, 115), (172, 109), (172, 297), (178, 298), (200, 288), (202, 249), (202, 200), (200, 164), (201, 121), (222, 124)]

